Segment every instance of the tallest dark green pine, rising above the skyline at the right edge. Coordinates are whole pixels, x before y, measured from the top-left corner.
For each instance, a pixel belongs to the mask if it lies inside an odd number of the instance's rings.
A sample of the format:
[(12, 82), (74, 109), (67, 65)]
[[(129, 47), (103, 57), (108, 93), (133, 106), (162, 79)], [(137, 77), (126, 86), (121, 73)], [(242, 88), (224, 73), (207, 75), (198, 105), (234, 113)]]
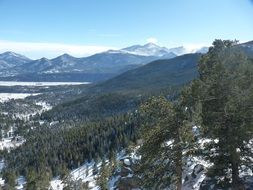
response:
[(248, 145), (253, 138), (253, 67), (236, 44), (214, 41), (199, 63), (200, 77), (191, 85), (191, 100), (201, 116), (203, 138), (212, 139), (204, 151), (214, 164), (209, 176), (218, 176), (221, 188), (244, 189), (239, 167), (250, 166), (252, 158)]

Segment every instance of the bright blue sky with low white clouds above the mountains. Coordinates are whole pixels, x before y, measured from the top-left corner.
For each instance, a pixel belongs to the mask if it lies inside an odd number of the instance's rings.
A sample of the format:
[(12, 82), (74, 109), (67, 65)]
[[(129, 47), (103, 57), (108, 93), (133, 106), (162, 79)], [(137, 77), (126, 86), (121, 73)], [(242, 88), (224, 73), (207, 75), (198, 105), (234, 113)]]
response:
[(252, 0), (0, 0), (0, 52), (32, 58), (216, 38), (253, 40)]

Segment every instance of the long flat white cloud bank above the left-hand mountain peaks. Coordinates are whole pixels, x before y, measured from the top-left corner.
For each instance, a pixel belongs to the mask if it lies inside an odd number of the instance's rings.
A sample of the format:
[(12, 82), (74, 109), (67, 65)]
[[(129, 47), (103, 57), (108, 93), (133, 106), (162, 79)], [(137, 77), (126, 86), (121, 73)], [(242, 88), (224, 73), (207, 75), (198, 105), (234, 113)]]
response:
[(108, 46), (70, 45), (61, 43), (32, 43), (0, 40), (0, 53), (13, 51), (32, 59), (54, 58), (68, 53), (76, 57), (85, 57), (95, 53), (115, 49)]

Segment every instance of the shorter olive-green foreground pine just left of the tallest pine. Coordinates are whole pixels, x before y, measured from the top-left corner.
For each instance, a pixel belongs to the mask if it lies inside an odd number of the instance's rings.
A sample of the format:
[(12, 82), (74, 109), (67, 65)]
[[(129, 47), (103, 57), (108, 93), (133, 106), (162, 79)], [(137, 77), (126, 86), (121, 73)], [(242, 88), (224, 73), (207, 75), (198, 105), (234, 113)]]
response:
[(144, 143), (138, 171), (148, 189), (181, 189), (183, 150), (190, 150), (191, 136), (184, 110), (180, 102), (173, 104), (164, 97), (153, 97), (140, 107)]

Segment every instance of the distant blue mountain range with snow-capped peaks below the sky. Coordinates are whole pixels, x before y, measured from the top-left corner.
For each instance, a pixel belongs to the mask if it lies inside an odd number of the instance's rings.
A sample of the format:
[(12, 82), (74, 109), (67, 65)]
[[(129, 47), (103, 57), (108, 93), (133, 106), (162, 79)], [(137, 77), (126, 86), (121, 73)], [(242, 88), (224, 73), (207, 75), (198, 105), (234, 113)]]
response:
[[(198, 50), (192, 50), (195, 53)], [(54, 59), (31, 60), (13, 52), (0, 54), (0, 80), (89, 81), (112, 78), (158, 59), (171, 59), (189, 53), (186, 48), (168, 49), (153, 43), (108, 50), (89, 57), (63, 54)], [(203, 50), (201, 53), (205, 53)]]

